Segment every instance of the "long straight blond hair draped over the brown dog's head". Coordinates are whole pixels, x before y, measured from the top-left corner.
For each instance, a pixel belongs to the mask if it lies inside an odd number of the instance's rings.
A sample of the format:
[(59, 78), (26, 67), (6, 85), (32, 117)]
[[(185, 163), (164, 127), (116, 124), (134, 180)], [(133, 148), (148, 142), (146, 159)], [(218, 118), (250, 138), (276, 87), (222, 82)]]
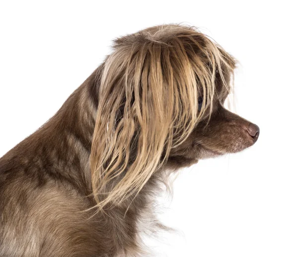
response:
[(99, 208), (138, 194), (212, 104), (218, 60), (210, 53), (210, 67), (194, 51), (194, 30), (174, 33), (126, 36), (105, 61), (90, 155)]

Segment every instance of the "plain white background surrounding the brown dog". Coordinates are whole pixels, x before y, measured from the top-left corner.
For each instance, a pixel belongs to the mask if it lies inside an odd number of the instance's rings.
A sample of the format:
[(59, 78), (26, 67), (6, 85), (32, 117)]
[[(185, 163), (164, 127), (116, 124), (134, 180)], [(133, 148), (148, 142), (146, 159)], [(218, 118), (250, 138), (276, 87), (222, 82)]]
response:
[[(0, 156), (34, 132), (110, 51), (152, 25), (195, 25), (235, 56), (236, 111), (252, 148), (181, 171), (160, 257), (297, 257), (295, 1), (0, 2)], [(183, 232), (183, 233), (182, 233)]]

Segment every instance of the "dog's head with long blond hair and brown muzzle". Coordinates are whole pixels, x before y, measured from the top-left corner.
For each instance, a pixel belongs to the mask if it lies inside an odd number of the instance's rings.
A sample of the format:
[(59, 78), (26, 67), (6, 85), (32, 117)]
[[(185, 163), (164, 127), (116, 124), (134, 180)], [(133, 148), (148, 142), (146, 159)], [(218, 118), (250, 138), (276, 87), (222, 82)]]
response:
[(99, 207), (138, 193), (157, 170), (256, 142), (259, 128), (224, 108), (235, 60), (206, 35), (155, 26), (116, 39), (113, 50), (99, 74), (90, 156)]

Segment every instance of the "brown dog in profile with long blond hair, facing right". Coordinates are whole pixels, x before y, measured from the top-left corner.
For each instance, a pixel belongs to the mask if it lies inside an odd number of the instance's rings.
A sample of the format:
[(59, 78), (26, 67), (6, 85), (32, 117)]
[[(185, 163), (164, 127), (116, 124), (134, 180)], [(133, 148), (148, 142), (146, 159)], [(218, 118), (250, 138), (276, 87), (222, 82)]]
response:
[(59, 111), (1, 157), (0, 256), (145, 255), (140, 224), (163, 228), (152, 199), (169, 174), (259, 137), (224, 108), (236, 63), (186, 25), (114, 40)]

